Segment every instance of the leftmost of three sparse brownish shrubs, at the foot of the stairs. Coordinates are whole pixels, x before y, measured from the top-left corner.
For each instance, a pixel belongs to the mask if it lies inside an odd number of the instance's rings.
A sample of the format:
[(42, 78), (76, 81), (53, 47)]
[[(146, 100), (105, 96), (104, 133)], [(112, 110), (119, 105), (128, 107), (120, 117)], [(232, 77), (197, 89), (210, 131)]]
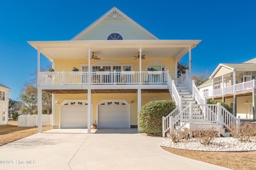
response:
[(189, 138), (189, 130), (188, 128), (184, 129), (172, 129), (170, 130), (170, 139), (174, 143), (178, 143), (182, 139), (188, 139)]

